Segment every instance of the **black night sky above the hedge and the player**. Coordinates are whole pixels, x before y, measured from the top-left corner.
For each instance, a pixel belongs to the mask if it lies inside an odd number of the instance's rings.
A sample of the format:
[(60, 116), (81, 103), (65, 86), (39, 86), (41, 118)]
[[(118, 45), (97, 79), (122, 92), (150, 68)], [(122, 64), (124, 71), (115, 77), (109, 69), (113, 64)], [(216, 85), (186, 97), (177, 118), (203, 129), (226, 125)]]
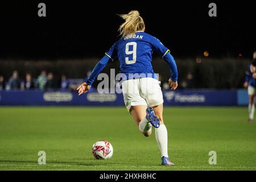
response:
[[(46, 17), (38, 3), (46, 3)], [(217, 17), (208, 16), (210, 2)], [(101, 57), (118, 39), (117, 14), (138, 10), (146, 32), (176, 57), (251, 57), (256, 49), (253, 1), (1, 1), (0, 59)]]

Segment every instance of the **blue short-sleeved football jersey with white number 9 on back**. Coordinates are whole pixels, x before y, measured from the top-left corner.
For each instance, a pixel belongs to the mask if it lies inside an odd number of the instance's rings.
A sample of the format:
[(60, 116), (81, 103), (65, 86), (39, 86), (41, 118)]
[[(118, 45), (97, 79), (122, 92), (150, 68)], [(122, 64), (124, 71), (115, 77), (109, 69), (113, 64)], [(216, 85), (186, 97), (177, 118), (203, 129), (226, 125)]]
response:
[[(129, 77), (129, 73), (145, 73), (146, 77), (155, 73), (152, 68), (152, 53), (155, 51), (161, 57), (170, 52), (158, 39), (143, 31), (134, 35), (122, 36), (105, 54), (114, 60), (120, 61), (120, 72)], [(156, 77), (155, 77), (156, 78)]]

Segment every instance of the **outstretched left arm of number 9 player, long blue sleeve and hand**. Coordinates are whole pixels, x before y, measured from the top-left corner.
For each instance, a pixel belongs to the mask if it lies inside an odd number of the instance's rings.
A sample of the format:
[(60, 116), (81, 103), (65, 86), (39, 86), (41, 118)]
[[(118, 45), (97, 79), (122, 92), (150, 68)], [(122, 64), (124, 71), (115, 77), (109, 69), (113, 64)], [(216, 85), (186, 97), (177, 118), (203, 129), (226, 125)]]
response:
[(111, 63), (113, 61), (114, 54), (116, 52), (116, 44), (115, 43), (108, 52), (105, 53), (105, 56), (102, 57), (100, 61), (95, 65), (93, 68), (92, 73), (90, 76), (83, 82), (76, 90), (78, 91), (79, 96), (83, 93), (86, 93), (91, 88), (93, 82), (96, 80), (98, 74), (106, 67), (108, 63)]

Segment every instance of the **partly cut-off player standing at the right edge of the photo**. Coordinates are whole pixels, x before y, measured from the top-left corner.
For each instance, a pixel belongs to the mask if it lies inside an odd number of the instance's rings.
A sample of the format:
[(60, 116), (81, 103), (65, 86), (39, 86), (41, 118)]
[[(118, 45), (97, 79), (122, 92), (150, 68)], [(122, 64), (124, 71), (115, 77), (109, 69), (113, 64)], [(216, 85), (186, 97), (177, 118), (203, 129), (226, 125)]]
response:
[(248, 64), (247, 71), (246, 71), (246, 77), (245, 82), (243, 83), (243, 86), (248, 89), (248, 98), (249, 98), (249, 104), (248, 104), (248, 111), (249, 111), (249, 119), (248, 122), (253, 122), (254, 118), (254, 110), (255, 110), (255, 66), (256, 66), (256, 51), (253, 53), (253, 63)]

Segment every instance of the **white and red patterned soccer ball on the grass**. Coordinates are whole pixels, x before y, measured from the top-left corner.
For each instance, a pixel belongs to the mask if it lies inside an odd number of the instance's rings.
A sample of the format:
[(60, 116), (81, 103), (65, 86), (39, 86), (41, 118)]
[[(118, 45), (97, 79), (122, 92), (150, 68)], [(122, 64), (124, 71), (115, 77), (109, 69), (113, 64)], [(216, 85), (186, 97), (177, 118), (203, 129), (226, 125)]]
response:
[(95, 159), (110, 159), (113, 155), (113, 147), (106, 140), (100, 140), (93, 144), (93, 156)]

